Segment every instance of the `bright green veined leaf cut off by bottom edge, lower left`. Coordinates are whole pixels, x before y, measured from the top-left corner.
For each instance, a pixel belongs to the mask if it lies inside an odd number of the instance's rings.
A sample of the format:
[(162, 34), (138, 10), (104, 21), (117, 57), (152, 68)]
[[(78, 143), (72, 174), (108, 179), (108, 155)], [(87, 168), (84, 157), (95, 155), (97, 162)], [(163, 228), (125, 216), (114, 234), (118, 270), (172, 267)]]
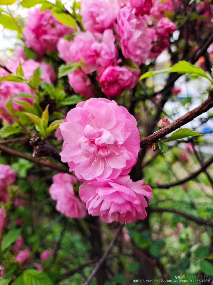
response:
[(52, 282), (47, 274), (36, 269), (24, 270), (23, 280), (26, 285), (52, 285)]

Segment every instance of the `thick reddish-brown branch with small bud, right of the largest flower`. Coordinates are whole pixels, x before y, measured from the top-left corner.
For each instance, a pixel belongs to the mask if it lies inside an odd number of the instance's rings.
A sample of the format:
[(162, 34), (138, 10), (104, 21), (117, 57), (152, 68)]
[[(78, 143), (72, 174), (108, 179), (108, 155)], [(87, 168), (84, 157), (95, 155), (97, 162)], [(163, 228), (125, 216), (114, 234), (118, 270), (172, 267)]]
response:
[(149, 137), (143, 138), (140, 141), (141, 148), (145, 146), (151, 146), (153, 143), (156, 143), (159, 139), (163, 138), (164, 136), (168, 135), (172, 131), (177, 130), (179, 127), (185, 125), (186, 123), (189, 123), (194, 118), (198, 117), (202, 113), (205, 113), (210, 108), (213, 107), (213, 94), (209, 93), (208, 99), (206, 99), (204, 102), (201, 103), (198, 107), (193, 109), (192, 111), (187, 112), (185, 115), (180, 117), (179, 119), (173, 121), (168, 126), (160, 129), (159, 131), (156, 131)]

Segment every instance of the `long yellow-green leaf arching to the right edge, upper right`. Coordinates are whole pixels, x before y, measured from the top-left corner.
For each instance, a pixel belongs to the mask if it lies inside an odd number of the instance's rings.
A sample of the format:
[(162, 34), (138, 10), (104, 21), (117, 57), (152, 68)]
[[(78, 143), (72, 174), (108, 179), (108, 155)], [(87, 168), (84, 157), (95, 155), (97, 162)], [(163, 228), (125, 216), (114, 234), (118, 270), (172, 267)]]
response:
[(166, 68), (162, 70), (156, 70), (156, 71), (149, 71), (144, 73), (139, 80), (142, 80), (144, 78), (154, 76), (157, 74), (162, 74), (162, 73), (172, 73), (172, 72), (178, 72), (179, 74), (197, 74), (200, 75), (206, 79), (208, 79), (211, 83), (213, 83), (213, 80), (208, 77), (208, 75), (199, 67), (196, 67), (189, 62), (182, 60), (178, 63), (176, 63), (174, 66), (171, 68)]

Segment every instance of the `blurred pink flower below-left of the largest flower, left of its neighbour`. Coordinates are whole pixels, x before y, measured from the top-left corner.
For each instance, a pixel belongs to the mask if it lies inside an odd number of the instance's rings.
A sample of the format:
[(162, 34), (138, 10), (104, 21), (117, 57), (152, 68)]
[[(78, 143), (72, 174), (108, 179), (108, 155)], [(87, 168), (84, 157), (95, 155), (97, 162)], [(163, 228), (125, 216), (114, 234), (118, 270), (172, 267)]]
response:
[(85, 205), (75, 196), (73, 189), (73, 184), (76, 182), (75, 176), (58, 173), (53, 176), (53, 184), (49, 188), (49, 193), (51, 198), (57, 201), (57, 211), (69, 218), (84, 218)]

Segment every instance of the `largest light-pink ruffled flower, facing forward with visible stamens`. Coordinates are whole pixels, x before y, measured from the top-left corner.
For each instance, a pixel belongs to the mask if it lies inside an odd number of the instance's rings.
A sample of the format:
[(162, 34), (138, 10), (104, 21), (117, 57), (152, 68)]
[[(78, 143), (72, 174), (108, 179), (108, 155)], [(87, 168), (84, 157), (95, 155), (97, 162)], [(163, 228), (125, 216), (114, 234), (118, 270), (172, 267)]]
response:
[(79, 180), (114, 179), (137, 160), (139, 132), (135, 118), (115, 101), (91, 98), (70, 110), (60, 124), (61, 160)]

